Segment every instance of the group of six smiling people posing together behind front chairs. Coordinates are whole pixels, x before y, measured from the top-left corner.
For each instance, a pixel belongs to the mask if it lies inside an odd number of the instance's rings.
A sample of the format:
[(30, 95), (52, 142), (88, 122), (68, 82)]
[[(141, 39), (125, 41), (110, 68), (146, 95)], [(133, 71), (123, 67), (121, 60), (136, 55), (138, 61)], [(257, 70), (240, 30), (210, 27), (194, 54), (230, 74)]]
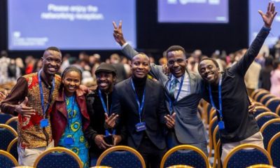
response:
[[(62, 53), (50, 47), (43, 53), (43, 68), (18, 79), (1, 111), (18, 116), (18, 161), (33, 166), (43, 151), (63, 146), (75, 152), (83, 167), (94, 166), (101, 153), (118, 144), (135, 148), (147, 167), (160, 167), (165, 152), (180, 144), (190, 144), (207, 154), (207, 140), (197, 106), (206, 100), (217, 111), (223, 146), (221, 160), (239, 144), (263, 147), (262, 134), (251, 106), (244, 76), (258, 55), (276, 15), (274, 3), (267, 12), (259, 11), (264, 27), (244, 57), (225, 71), (218, 63), (204, 58), (200, 74), (188, 71), (183, 47), (167, 49), (167, 66), (150, 63), (149, 57), (126, 43), (122, 22), (113, 22), (113, 36), (132, 60), (132, 77), (114, 85), (116, 69), (102, 63), (95, 74), (97, 89), (80, 85), (82, 76), (75, 66), (67, 67), (61, 77), (57, 71)], [(157, 81), (148, 78), (152, 76)]]

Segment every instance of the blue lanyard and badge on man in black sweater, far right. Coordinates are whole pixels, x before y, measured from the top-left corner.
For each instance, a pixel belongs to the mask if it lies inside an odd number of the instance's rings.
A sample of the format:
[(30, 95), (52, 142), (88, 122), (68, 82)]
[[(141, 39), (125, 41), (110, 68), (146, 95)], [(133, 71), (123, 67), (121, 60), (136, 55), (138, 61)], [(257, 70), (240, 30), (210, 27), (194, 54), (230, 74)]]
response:
[(209, 97), (211, 101), (211, 105), (216, 109), (216, 111), (219, 113), (220, 121), (218, 122), (218, 128), (219, 130), (225, 129), (225, 123), (223, 122), (223, 109), (222, 109), (222, 76), (220, 77), (219, 83), (218, 83), (218, 102), (220, 109), (218, 110), (214, 104), (213, 96), (212, 96), (212, 90), (211, 85), (209, 84)]

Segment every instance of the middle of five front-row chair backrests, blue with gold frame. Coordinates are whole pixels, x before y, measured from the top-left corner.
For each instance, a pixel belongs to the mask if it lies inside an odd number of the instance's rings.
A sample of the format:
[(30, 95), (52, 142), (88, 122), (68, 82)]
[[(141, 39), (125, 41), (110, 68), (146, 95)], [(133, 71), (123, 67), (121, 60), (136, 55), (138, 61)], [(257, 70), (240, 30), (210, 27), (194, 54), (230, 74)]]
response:
[(99, 165), (114, 168), (146, 168), (144, 158), (141, 154), (129, 146), (113, 146), (107, 149), (99, 156), (97, 166)]

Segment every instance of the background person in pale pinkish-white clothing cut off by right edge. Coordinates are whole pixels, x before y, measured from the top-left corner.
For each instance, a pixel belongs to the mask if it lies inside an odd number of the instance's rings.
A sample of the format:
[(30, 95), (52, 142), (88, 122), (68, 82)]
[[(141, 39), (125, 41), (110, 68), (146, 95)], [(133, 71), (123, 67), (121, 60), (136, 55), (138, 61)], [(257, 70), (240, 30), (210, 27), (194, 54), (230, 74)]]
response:
[(270, 92), (276, 97), (280, 97), (280, 61), (274, 62), (274, 70), (271, 72)]

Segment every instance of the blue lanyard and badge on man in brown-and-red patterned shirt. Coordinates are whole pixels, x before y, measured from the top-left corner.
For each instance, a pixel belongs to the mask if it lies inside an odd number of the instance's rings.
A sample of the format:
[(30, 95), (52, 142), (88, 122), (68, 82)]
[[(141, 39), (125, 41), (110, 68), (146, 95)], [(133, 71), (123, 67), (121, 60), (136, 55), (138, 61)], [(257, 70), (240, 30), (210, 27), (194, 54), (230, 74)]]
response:
[(45, 114), (47, 113), (49, 107), (50, 107), (50, 100), (52, 97), (52, 92), (55, 90), (55, 78), (52, 78), (52, 89), (50, 90), (50, 94), (48, 97), (48, 103), (47, 106), (44, 105), (44, 99), (43, 99), (43, 86), (42, 86), (42, 81), (41, 81), (41, 71), (38, 72), (38, 83), (39, 83), (39, 88), (40, 88), (40, 98), (41, 98), (41, 107), (43, 111), (43, 119), (40, 121), (40, 127), (48, 127), (50, 124), (48, 123), (48, 119), (45, 119)]

